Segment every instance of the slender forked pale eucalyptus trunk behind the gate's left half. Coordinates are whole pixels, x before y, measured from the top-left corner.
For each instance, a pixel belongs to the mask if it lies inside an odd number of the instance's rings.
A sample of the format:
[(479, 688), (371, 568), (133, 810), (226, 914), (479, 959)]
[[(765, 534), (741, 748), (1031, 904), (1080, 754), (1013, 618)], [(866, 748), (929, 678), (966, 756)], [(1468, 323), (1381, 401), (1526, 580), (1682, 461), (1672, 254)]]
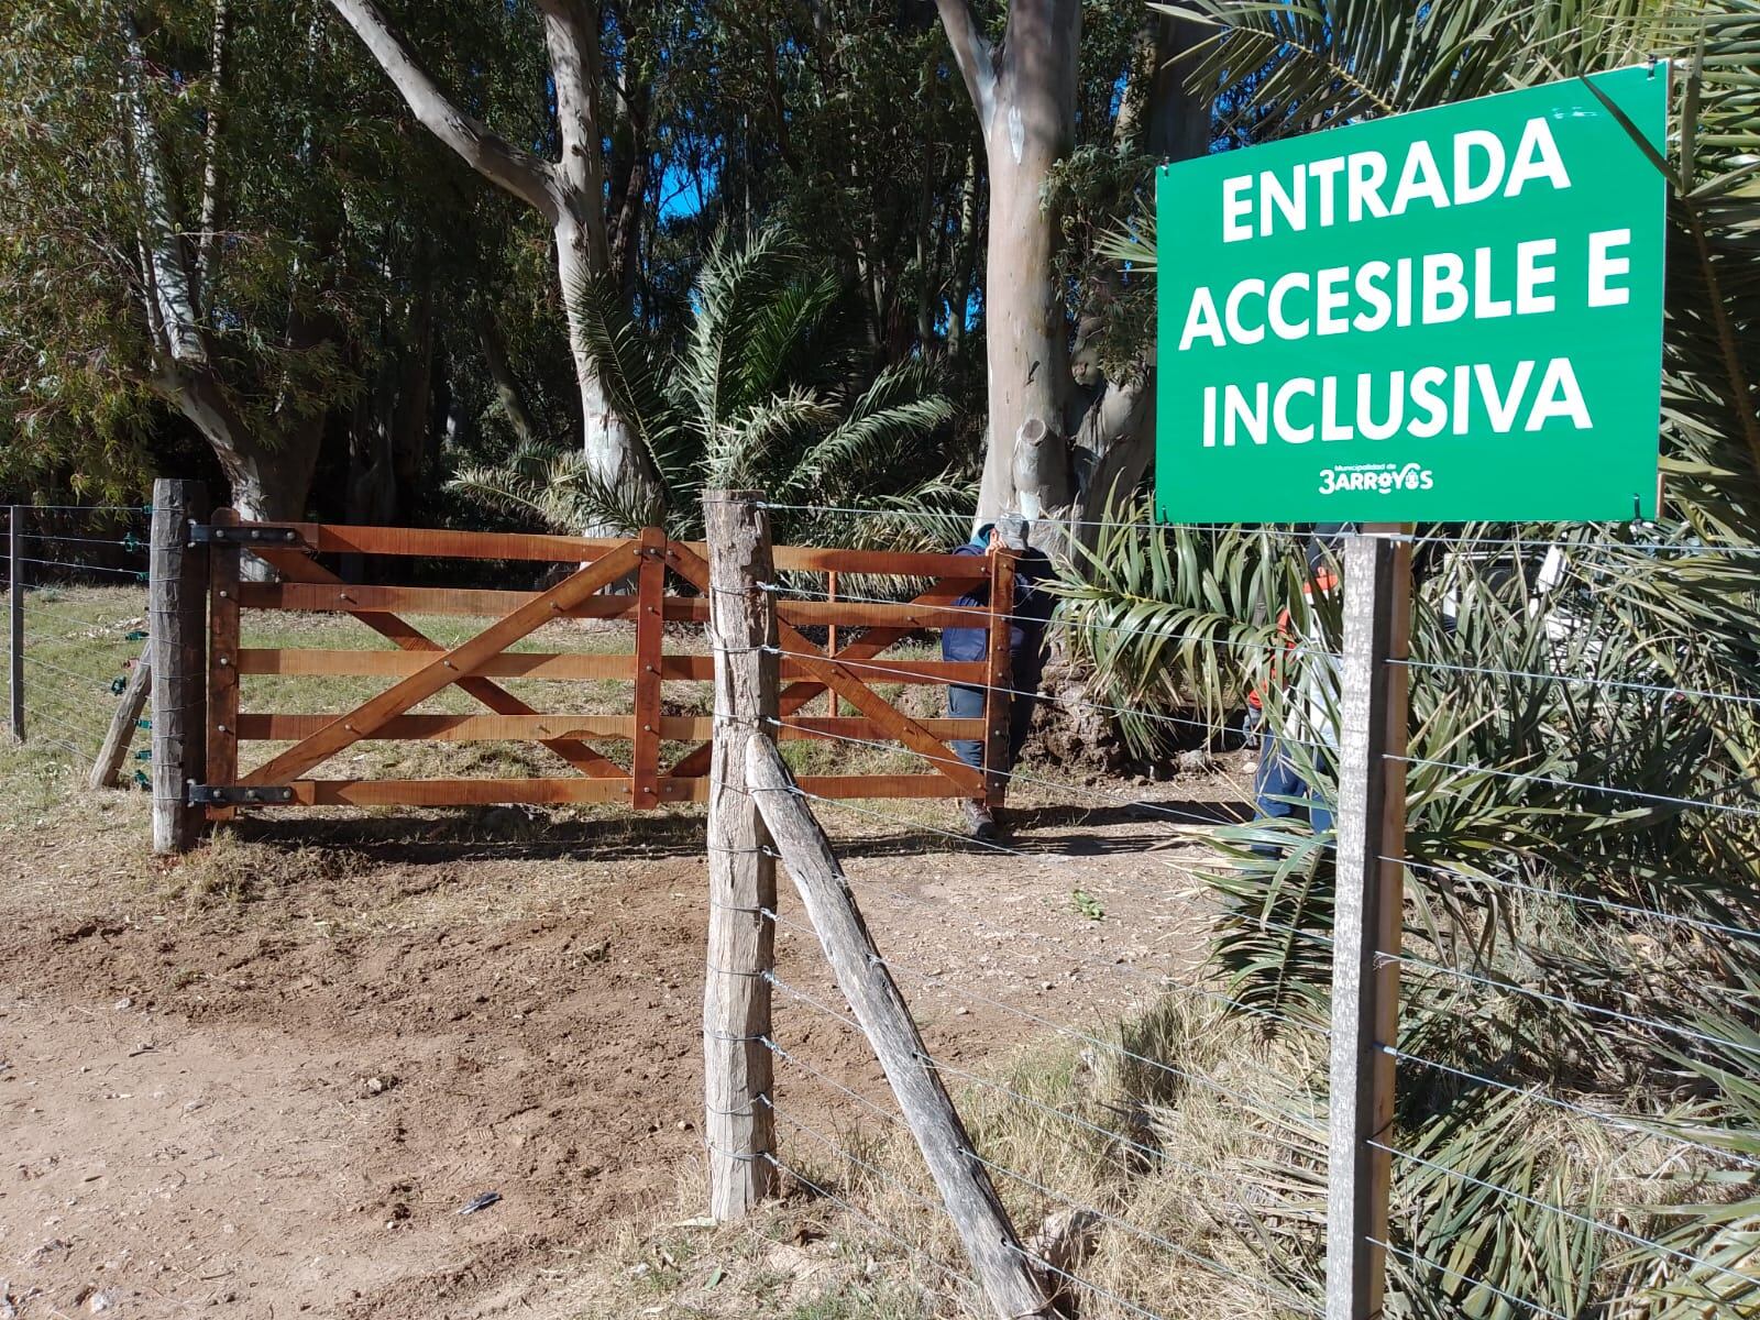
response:
[[(588, 470), (605, 488), (621, 491), (630, 505), (656, 503), (658, 475), (605, 392), (572, 296), (576, 289), (605, 278), (611, 271), (600, 153), (598, 7), (584, 0), (537, 0), (561, 139), (561, 158), (554, 162), (514, 146), (451, 100), (375, 0), (331, 0), (331, 7), (354, 28), (428, 132), (549, 224), (556, 243), (556, 276), (568, 308), (568, 348), (581, 396)], [(605, 524), (581, 528), (588, 535), (625, 530), (628, 528)]]

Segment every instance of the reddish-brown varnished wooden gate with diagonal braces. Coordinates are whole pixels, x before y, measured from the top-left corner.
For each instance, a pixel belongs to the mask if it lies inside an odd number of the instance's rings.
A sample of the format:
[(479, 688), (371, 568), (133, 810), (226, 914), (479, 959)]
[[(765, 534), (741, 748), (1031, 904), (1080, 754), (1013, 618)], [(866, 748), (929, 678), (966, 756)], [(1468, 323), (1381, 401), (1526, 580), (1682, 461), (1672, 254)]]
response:
[[(658, 528), (637, 537), (584, 539), (521, 533), (438, 532), (338, 526), (329, 523), (245, 523), (220, 510), (192, 540), (209, 553), (208, 611), (208, 766), (206, 783), (190, 787), (192, 804), (211, 820), (257, 806), (466, 806), (488, 803), (695, 803), (708, 797), (708, 715), (669, 715), (662, 683), (706, 683), (713, 655), (681, 646), (669, 623), (706, 623), (709, 567), (700, 544), (667, 540)], [(278, 581), (245, 581), (241, 560), (268, 563)], [(392, 556), (426, 561), (567, 565), (565, 576), (542, 590), (465, 586), (361, 586), (345, 583), (319, 556)], [(922, 769), (906, 774), (806, 774), (801, 787), (822, 797), (986, 797), (996, 801), (1001, 774), (972, 769), (949, 748), (950, 739), (982, 743), (987, 767), (1000, 764), (1007, 713), (1007, 621), (993, 605), (956, 602), (980, 595), (1014, 598), (1012, 560), (1005, 554), (892, 554), (875, 551), (787, 547), (774, 551), (778, 576), (797, 591), (778, 588), (780, 695), (783, 739), (822, 737), (899, 744), (920, 755)], [(431, 563), (428, 572), (431, 574)], [(516, 570), (532, 579), (535, 574)], [(554, 572), (554, 570), (553, 570)], [(908, 602), (838, 598), (838, 583), (864, 584), (885, 577), (912, 579)], [(922, 586), (928, 583), (928, 586)], [(820, 598), (803, 598), (820, 597)], [(299, 611), (357, 620), (391, 648), (336, 649), (246, 646), (243, 620), (259, 612)], [(415, 616), (488, 620), (461, 639), (440, 641), (415, 627)], [(634, 649), (584, 653), (519, 649), (535, 634), (563, 620), (627, 620)], [(456, 625), (454, 625), (456, 627)], [(987, 658), (970, 664), (940, 658), (889, 656), (899, 642), (947, 627), (987, 627)], [(803, 630), (822, 630), (818, 642)], [(554, 635), (554, 630), (551, 632)], [(363, 637), (364, 639), (364, 637)], [(320, 713), (248, 709), (252, 679), (304, 676), (313, 679), (385, 679), (364, 700)], [(533, 681), (604, 681), (630, 685), (627, 711), (570, 715), (533, 704)], [(516, 695), (509, 683), (526, 692)], [(982, 720), (910, 716), (882, 695), (891, 685), (966, 683), (986, 686)], [(419, 713), (424, 700), (458, 690), (480, 713)], [(827, 715), (811, 715), (815, 697), (831, 695)], [(843, 708), (854, 715), (840, 713)], [(553, 774), (456, 778), (312, 778), (312, 773), (366, 741), (408, 743), (532, 743), (554, 759)], [(241, 746), (289, 744), (241, 769)], [(665, 744), (695, 744), (662, 764)], [(607, 746), (609, 744), (609, 746)], [(627, 764), (611, 755), (627, 748)]]

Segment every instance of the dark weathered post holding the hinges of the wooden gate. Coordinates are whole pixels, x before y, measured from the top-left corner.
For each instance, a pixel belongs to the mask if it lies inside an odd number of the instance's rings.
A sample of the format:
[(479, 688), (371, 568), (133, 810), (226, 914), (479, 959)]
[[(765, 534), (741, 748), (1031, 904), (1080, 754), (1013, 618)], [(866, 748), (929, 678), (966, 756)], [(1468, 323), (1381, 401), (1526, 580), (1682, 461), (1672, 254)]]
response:
[(153, 651), (153, 852), (188, 852), (202, 810), (188, 806), (208, 759), (208, 553), (190, 524), (208, 516), (199, 480), (153, 482), (148, 637)]

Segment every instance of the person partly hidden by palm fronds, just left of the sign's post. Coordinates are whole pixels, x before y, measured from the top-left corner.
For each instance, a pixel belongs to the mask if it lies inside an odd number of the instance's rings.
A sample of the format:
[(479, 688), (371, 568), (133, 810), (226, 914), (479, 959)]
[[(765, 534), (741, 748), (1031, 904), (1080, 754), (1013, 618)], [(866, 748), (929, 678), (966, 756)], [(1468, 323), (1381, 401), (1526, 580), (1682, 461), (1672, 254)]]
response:
[[(1336, 591), (1338, 551), (1348, 523), (1316, 523), (1308, 539), (1308, 581), (1302, 583), (1302, 597), (1308, 609), (1306, 635), (1297, 632), (1288, 607), (1278, 614), (1278, 634), (1285, 637), (1285, 649), (1295, 664), (1271, 664), (1271, 681), (1285, 688), (1276, 702), (1281, 725), (1267, 727), (1265, 702), (1255, 690), (1248, 693), (1248, 727), (1258, 732), (1258, 767), (1253, 773), (1253, 806), (1260, 820), (1285, 820), (1306, 813), (1315, 834), (1332, 829), (1332, 804), (1316, 797), (1313, 787), (1302, 778), (1299, 762), (1290, 755), (1290, 744), (1301, 743), (1309, 757), (1320, 755), (1325, 748), (1338, 746), (1338, 729), (1329, 708), (1325, 676), (1318, 665), (1325, 660), (1308, 653), (1294, 656), (1297, 648), (1320, 649), (1318, 630), (1315, 628), (1313, 602), (1329, 591)], [(1271, 845), (1257, 845), (1253, 852), (1276, 854)]]

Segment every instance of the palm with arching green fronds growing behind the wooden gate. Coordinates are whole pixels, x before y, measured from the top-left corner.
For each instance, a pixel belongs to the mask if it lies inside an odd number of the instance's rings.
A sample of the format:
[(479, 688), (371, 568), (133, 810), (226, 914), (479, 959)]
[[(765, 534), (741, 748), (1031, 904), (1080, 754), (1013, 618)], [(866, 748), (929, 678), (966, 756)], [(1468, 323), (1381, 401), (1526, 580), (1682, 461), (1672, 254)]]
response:
[[(952, 528), (975, 500), (970, 479), (949, 470), (952, 405), (920, 361), (852, 384), (862, 364), (841, 329), (845, 292), (780, 225), (744, 245), (723, 232), (697, 276), (692, 329), (662, 356), (620, 315), (614, 290), (579, 285), (574, 320), (660, 489), (644, 498), (607, 486), (556, 444), (521, 445), (505, 463), (459, 472), (452, 486), (560, 532), (665, 524), (685, 533), (700, 524), (699, 493), (715, 488), (760, 489), (778, 505), (813, 510), (780, 521), (820, 535), (840, 521), (836, 510), (887, 505), (945, 512)], [(885, 532), (873, 516), (841, 517), (852, 521), (869, 539)]]

